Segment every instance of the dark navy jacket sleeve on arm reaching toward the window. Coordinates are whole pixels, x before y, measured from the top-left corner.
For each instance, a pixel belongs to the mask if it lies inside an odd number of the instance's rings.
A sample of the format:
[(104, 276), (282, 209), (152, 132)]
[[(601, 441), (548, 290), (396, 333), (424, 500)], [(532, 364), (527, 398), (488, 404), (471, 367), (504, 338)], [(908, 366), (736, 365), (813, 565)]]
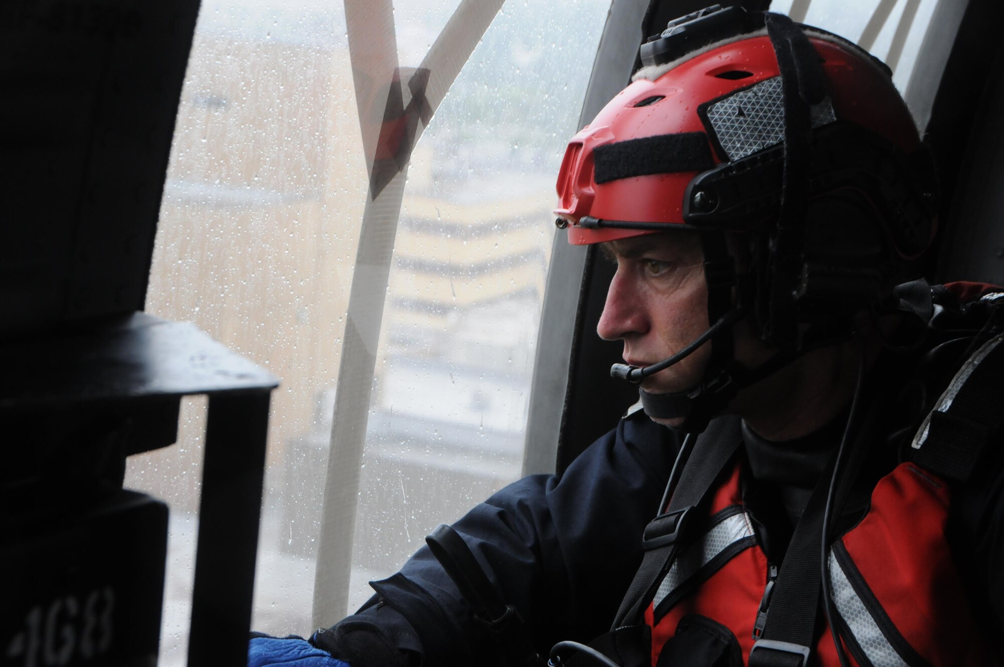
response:
[[(453, 525), (519, 612), (542, 655), (557, 641), (587, 642), (609, 629), (641, 564), (642, 533), (678, 449), (671, 431), (635, 413), (560, 477), (521, 479)], [(479, 646), (467, 605), (428, 547), (371, 586), (380, 604), (339, 626), (365, 620), (407, 655), (417, 648), (424, 665), (485, 664), (469, 662), (486, 647)], [(338, 657), (368, 667), (364, 656)]]

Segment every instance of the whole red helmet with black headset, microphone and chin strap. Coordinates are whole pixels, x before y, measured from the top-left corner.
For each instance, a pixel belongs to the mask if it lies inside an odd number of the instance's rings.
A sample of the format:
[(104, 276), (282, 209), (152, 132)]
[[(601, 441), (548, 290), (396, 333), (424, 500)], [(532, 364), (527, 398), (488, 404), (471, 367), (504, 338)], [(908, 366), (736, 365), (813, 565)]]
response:
[[(611, 369), (640, 383), (714, 341), (698, 387), (642, 391), (650, 415), (700, 429), (916, 271), (935, 231), (933, 169), (889, 68), (786, 16), (716, 5), (671, 22), (642, 60), (569, 142), (554, 212), (576, 245), (706, 232), (708, 330), (659, 364)], [(726, 231), (748, 234), (742, 276)], [(733, 358), (740, 318), (778, 350), (759, 369)]]

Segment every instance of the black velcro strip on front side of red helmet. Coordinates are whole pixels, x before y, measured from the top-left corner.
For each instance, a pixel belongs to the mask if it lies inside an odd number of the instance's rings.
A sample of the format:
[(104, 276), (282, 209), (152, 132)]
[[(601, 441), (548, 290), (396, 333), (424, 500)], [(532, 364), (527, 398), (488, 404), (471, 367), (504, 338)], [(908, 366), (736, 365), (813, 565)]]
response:
[(592, 157), (592, 178), (596, 183), (651, 174), (703, 172), (715, 166), (708, 136), (703, 132), (604, 144), (593, 150)]

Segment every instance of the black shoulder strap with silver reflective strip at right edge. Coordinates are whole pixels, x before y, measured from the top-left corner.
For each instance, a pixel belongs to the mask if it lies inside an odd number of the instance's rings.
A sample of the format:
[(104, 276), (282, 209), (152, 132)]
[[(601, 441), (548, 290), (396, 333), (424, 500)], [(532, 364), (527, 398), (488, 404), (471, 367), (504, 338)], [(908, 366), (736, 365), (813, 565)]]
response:
[(913, 461), (955, 481), (967, 481), (990, 438), (1004, 425), (1000, 378), (1004, 334), (962, 366), (914, 438)]

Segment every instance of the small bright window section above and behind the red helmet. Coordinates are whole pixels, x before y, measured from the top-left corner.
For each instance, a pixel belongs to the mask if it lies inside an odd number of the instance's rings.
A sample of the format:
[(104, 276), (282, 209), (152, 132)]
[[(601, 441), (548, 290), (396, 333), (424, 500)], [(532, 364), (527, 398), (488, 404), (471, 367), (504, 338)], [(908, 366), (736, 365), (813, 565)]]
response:
[(881, 58), (906, 93), (935, 7), (958, 0), (774, 0), (771, 11), (818, 25)]

